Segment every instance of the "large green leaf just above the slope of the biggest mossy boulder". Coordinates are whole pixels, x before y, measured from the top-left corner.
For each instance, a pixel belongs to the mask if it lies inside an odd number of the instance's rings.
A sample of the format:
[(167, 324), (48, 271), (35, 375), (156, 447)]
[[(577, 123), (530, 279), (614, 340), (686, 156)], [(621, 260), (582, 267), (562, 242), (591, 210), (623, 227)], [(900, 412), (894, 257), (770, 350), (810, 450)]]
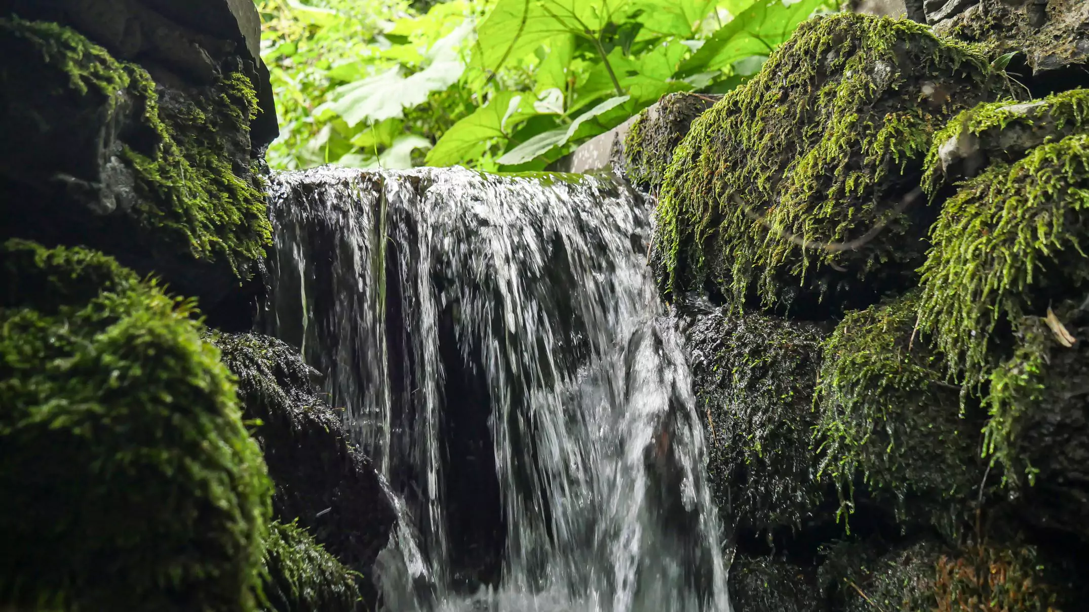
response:
[(799, 0), (790, 5), (781, 0), (757, 0), (682, 63), (678, 74), (689, 76), (722, 70), (743, 58), (768, 54), (824, 4), (827, 0)]

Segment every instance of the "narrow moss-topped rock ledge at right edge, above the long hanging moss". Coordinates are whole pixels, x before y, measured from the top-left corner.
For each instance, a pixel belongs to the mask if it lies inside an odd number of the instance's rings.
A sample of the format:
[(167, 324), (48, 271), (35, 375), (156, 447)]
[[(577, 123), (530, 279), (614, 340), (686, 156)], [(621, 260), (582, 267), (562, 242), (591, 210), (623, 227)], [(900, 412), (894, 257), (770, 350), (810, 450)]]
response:
[(1044, 143), (1084, 132), (1089, 118), (1089, 89), (1072, 89), (1039, 100), (1002, 100), (962, 111), (934, 135), (927, 154), (923, 186), (931, 195), (943, 182), (958, 178), (951, 168), (1013, 162)]

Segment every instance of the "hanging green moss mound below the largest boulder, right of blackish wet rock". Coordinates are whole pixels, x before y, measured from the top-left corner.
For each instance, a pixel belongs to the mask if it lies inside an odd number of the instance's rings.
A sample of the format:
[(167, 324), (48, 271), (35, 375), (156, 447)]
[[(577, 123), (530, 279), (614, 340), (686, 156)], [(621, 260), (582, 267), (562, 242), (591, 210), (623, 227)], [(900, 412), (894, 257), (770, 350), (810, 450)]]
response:
[(959, 387), (945, 382), (941, 353), (916, 328), (918, 304), (913, 291), (851, 313), (824, 344), (815, 436), (820, 473), (840, 485), (844, 509), (860, 474), (893, 493), (902, 514), (907, 498), (918, 495), (926, 499), (916, 504), (944, 514), (942, 500), (970, 498), (987, 467), (979, 456), (983, 418), (976, 406), (959, 409)]

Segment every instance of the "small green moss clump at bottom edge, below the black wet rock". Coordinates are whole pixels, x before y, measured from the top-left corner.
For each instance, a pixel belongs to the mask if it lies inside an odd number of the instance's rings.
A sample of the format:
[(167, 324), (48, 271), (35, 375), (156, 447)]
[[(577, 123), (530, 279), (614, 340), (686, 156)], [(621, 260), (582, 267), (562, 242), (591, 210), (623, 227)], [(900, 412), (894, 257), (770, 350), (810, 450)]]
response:
[(266, 612), (356, 612), (358, 574), (341, 565), (296, 523), (273, 523), (265, 540)]

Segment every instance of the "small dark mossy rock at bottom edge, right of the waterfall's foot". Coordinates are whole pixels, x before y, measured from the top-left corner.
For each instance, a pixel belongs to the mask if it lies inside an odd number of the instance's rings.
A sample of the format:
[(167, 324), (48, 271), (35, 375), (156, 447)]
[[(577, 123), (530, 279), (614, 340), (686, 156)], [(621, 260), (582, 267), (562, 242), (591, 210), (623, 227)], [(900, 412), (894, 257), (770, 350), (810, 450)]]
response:
[(730, 566), (734, 612), (822, 612), (827, 610), (810, 572), (769, 558), (735, 559)]

